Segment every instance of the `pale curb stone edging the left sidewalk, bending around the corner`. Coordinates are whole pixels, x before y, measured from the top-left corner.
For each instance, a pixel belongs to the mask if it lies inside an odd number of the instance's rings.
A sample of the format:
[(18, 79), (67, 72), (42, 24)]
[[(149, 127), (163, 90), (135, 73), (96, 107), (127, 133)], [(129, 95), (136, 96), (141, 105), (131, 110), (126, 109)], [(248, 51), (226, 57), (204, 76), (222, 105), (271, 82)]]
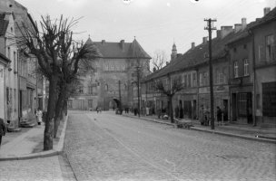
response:
[(4, 157), (0, 157), (0, 161), (25, 160), (25, 159), (34, 159), (38, 157), (53, 157), (61, 154), (64, 149), (64, 138), (65, 138), (65, 130), (67, 128), (67, 119), (68, 119), (68, 114), (65, 117), (64, 128), (62, 130), (59, 141), (55, 147), (53, 146), (52, 150), (42, 151), (38, 153), (31, 153), (24, 156), (9, 156), (9, 157), (4, 156)]

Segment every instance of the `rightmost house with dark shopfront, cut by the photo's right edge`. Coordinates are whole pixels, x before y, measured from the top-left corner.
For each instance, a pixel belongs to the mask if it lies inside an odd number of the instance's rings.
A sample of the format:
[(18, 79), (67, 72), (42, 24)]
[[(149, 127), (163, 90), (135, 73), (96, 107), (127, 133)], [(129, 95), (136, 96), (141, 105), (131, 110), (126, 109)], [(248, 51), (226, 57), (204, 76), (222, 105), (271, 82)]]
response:
[(250, 28), (253, 38), (256, 123), (276, 125), (276, 8)]

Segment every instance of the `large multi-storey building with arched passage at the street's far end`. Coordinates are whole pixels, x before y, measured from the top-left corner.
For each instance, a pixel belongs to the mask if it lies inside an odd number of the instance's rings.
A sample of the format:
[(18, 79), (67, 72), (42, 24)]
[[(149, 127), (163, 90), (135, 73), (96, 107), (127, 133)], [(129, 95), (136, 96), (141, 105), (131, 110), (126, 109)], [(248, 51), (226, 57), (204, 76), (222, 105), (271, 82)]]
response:
[(137, 70), (147, 75), (151, 57), (136, 39), (133, 43), (93, 42), (101, 58), (94, 62), (94, 70), (82, 77), (81, 86), (68, 101), (71, 110), (109, 110), (137, 106)]

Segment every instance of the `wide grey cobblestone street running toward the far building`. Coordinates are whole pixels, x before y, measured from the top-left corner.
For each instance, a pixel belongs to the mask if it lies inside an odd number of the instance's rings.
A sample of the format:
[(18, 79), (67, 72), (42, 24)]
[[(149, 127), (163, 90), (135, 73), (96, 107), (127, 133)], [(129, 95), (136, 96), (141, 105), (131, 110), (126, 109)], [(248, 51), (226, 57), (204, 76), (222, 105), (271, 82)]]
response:
[(275, 144), (173, 129), (113, 112), (68, 119), (78, 180), (275, 180)]

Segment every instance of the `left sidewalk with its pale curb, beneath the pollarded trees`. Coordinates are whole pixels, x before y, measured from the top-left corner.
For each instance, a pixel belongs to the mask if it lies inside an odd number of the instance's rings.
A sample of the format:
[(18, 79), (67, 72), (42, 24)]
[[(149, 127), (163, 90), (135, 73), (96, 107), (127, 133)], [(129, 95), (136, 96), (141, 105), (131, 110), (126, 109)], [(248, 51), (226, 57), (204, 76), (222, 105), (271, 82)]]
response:
[(20, 160), (58, 155), (64, 147), (64, 135), (68, 116), (61, 121), (57, 138), (54, 138), (53, 150), (44, 151), (44, 125), (23, 128), (20, 132), (7, 132), (0, 148), (1, 160)]

